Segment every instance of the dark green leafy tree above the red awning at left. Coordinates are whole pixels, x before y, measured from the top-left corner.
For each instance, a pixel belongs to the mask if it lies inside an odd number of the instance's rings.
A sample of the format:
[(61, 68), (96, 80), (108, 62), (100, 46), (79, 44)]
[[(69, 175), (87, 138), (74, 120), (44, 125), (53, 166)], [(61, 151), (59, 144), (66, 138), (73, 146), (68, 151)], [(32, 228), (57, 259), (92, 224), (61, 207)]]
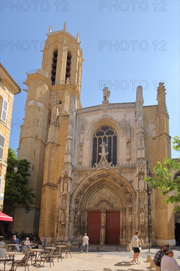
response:
[[(14, 172), (14, 166), (18, 167), (18, 172)], [(7, 157), (7, 171), (5, 178), (4, 206), (13, 207), (15, 204), (22, 205), (26, 213), (30, 212), (30, 205), (34, 204), (36, 197), (33, 189), (28, 186), (27, 177), (30, 162), (26, 159), (20, 160), (16, 157), (15, 150), (9, 148)]]

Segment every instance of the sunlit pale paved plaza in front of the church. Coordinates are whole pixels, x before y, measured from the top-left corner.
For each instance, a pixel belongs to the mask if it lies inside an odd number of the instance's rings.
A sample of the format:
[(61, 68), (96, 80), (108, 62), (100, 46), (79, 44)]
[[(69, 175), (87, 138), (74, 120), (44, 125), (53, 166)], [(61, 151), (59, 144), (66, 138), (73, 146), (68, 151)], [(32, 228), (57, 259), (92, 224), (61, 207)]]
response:
[[(153, 259), (154, 254), (158, 248), (143, 249), (140, 253), (139, 261), (141, 264), (132, 265), (129, 262), (133, 259), (133, 252), (127, 252), (126, 247), (115, 247), (115, 246), (103, 246), (98, 247), (90, 246), (88, 254), (86, 252), (80, 253), (78, 246), (73, 246), (71, 256), (62, 259), (62, 262), (55, 259), (54, 267), (50, 268), (49, 263), (45, 263), (41, 266), (33, 267), (29, 266), (30, 271), (42, 270), (42, 271), (155, 271), (155, 268), (150, 268), (150, 263), (146, 262), (147, 255), (151, 255)], [(116, 251), (118, 249), (118, 251)], [(174, 258), (180, 265), (180, 248), (173, 249)], [(64, 254), (65, 255), (65, 254)], [(21, 259), (18, 256), (16, 259)], [(38, 261), (39, 262), (39, 261)], [(29, 261), (30, 263), (30, 261)], [(5, 270), (9, 270), (11, 264), (6, 264)], [(0, 270), (3, 270), (3, 265), (0, 266)], [(24, 267), (18, 267), (17, 271), (25, 270)]]

